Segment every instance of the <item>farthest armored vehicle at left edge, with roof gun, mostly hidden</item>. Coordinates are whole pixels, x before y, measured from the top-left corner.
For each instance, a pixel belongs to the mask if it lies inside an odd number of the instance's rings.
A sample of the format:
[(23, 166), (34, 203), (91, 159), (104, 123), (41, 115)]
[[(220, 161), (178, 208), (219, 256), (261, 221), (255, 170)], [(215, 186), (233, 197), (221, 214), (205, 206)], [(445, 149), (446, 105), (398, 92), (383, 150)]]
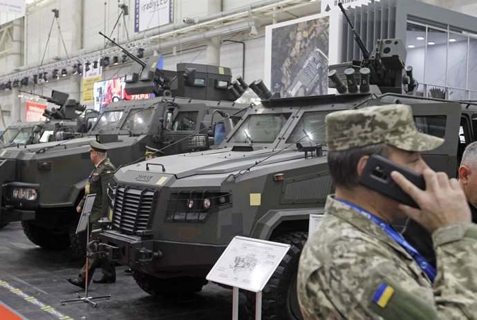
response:
[[(20, 92), (24, 91), (20, 90)], [(68, 99), (69, 95), (67, 93), (57, 90), (51, 92), (51, 97), (45, 97), (41, 94), (34, 95), (54, 103), (59, 108), (45, 110), (45, 121), (12, 123), (0, 135), (0, 148), (60, 141), (79, 135), (76, 119), (85, 110), (84, 106), (79, 105), (79, 102), (73, 99)], [(67, 109), (68, 111), (66, 111)]]

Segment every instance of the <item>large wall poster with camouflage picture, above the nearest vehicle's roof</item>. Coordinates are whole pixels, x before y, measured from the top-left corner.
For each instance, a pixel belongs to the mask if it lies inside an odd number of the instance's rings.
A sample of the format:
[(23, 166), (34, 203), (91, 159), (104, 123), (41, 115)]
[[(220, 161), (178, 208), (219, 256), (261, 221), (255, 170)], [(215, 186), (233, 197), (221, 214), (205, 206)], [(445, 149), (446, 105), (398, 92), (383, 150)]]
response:
[(328, 94), (328, 65), (337, 63), (339, 28), (335, 12), (268, 26), (265, 83), (270, 90), (281, 97)]

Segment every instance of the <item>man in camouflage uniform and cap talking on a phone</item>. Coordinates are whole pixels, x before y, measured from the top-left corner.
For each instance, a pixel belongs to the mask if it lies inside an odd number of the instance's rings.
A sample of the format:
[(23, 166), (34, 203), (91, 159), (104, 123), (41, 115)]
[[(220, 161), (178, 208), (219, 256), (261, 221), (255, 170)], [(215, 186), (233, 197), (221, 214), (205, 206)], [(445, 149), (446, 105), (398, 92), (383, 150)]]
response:
[[(477, 226), (458, 181), (433, 172), (420, 156), (443, 140), (418, 132), (403, 105), (333, 112), (326, 125), (336, 192), (301, 253), (303, 317), (477, 319)], [(424, 175), (425, 191), (391, 174), (420, 210), (358, 184), (373, 153)], [(432, 233), (437, 272), (389, 226), (406, 216)]]

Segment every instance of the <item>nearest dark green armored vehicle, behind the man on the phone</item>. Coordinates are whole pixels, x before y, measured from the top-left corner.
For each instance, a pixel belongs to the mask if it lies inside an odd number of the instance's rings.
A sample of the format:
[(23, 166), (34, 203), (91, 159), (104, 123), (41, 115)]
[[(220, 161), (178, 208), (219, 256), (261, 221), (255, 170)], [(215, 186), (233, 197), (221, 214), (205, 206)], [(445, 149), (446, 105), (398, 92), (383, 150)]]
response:
[[(297, 266), (309, 215), (323, 213), (333, 192), (326, 114), (408, 104), (422, 132), (445, 139), (424, 159), (451, 176), (465, 145), (476, 139), (475, 104), (405, 93), (415, 90), (411, 69), (404, 70), (405, 54), (400, 39), (385, 39), (363, 66), (330, 67), (336, 94), (279, 98), (254, 81), (250, 88), (262, 103), (241, 117), (216, 150), (152, 159), (115, 173), (111, 222), (93, 234), (91, 249), (131, 267), (144, 291), (170, 297), (200, 291), (237, 235), (288, 243), (288, 254), (263, 290), (262, 317), (301, 319)], [(245, 293), (253, 319), (255, 295)]]

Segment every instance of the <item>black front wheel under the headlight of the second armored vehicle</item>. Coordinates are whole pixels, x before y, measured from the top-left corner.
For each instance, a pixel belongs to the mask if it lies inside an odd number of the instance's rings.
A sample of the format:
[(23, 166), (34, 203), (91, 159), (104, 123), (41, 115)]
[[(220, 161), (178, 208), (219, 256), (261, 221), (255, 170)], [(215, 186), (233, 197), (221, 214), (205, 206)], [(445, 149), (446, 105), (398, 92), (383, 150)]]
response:
[(65, 250), (70, 246), (68, 231), (49, 230), (31, 223), (21, 221), (26, 237), (37, 246), (48, 250)]

